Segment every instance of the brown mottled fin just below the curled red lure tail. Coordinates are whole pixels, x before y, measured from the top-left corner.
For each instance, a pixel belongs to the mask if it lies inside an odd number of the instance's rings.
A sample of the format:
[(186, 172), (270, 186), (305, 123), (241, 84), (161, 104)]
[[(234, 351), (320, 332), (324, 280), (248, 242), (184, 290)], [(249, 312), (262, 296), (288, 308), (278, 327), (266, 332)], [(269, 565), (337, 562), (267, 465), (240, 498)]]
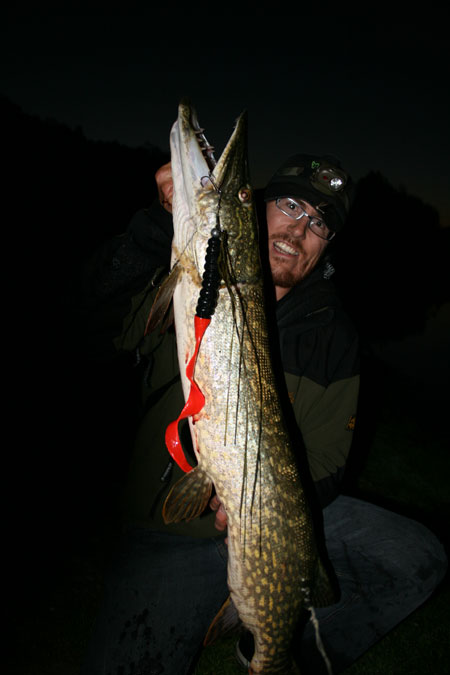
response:
[(164, 502), (162, 514), (165, 523), (179, 523), (199, 516), (208, 505), (212, 481), (199, 466), (175, 483)]

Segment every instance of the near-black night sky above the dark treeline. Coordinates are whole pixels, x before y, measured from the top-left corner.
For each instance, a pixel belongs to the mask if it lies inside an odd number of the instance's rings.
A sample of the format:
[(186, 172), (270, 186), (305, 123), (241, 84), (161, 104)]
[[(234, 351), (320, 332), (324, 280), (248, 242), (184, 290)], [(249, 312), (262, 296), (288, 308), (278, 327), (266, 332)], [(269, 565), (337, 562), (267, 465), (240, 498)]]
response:
[(257, 16), (123, 4), (2, 10), (0, 92), (89, 139), (163, 150), (182, 96), (218, 151), (246, 109), (255, 186), (291, 154), (334, 154), (356, 179), (380, 171), (450, 226), (450, 59), (439, 13), (421, 5), (400, 22), (365, 5), (300, 20), (284, 5)]

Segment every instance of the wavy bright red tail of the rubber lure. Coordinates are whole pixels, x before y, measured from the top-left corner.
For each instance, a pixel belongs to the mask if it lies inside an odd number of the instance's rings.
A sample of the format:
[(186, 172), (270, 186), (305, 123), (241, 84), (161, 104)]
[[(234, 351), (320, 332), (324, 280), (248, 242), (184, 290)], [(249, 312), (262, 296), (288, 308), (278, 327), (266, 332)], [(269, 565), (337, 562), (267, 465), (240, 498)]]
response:
[(183, 447), (181, 445), (180, 437), (178, 435), (178, 423), (189, 417), (190, 415), (196, 415), (205, 405), (205, 397), (194, 381), (194, 370), (195, 363), (197, 361), (198, 350), (200, 349), (200, 344), (205, 334), (206, 329), (211, 323), (211, 319), (202, 319), (199, 316), (194, 317), (194, 327), (195, 327), (195, 349), (191, 357), (191, 360), (186, 366), (186, 377), (191, 383), (191, 389), (189, 392), (189, 397), (186, 401), (186, 404), (181, 411), (178, 419), (174, 422), (171, 422), (166, 429), (166, 446), (171, 455), (171, 457), (176, 461), (180, 469), (185, 471), (191, 471), (194, 467), (189, 464), (186, 459), (186, 456), (183, 452)]

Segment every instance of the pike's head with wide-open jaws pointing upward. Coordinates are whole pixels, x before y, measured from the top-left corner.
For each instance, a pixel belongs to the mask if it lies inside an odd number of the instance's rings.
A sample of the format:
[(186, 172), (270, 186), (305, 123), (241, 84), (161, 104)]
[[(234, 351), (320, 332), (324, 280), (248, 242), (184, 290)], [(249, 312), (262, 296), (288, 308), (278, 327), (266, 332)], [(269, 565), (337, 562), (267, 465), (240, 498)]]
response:
[[(201, 278), (208, 239), (221, 233), (223, 275), (232, 283), (260, 275), (258, 226), (247, 158), (247, 113), (237, 119), (216, 161), (189, 101), (178, 107), (170, 136), (174, 183), (172, 264), (195, 266)], [(225, 271), (225, 268), (227, 271)]]

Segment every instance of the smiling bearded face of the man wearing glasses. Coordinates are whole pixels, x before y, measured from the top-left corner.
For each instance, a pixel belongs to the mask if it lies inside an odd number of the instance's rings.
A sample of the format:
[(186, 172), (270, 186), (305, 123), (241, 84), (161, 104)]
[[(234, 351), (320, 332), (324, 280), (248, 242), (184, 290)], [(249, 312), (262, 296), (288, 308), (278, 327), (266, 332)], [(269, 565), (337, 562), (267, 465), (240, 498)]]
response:
[[(309, 215), (321, 217), (308, 202), (298, 197), (294, 199)], [(267, 202), (266, 214), (270, 269), (275, 295), (280, 300), (312, 272), (328, 241), (309, 229), (306, 217), (294, 220), (280, 211), (275, 200)]]

